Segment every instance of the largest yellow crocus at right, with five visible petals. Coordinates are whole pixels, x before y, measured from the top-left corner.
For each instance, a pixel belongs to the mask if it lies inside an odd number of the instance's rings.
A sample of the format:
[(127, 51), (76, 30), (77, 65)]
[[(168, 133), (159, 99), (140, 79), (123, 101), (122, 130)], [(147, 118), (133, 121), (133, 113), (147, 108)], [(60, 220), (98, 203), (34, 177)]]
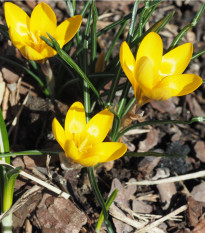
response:
[(142, 40), (134, 58), (128, 44), (120, 48), (120, 63), (134, 89), (139, 106), (150, 100), (167, 100), (196, 90), (202, 79), (195, 74), (182, 74), (193, 53), (193, 45), (186, 43), (163, 56), (161, 37), (150, 32)]

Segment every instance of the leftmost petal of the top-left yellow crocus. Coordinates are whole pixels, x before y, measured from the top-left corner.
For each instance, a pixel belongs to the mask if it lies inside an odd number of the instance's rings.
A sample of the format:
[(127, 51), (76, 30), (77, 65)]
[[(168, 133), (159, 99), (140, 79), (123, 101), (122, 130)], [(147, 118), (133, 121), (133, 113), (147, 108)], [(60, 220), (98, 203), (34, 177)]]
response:
[[(28, 40), (28, 24), (30, 21), (29, 16), (18, 6), (11, 2), (6, 2), (4, 4), (5, 9), (5, 18), (8, 25), (9, 30), (12, 28), (12, 32), (15, 30), (15, 35), (9, 32), (12, 41), (18, 41), (19, 37), (20, 41)], [(15, 39), (15, 36), (18, 38)], [(23, 43), (23, 42), (20, 42)]]

